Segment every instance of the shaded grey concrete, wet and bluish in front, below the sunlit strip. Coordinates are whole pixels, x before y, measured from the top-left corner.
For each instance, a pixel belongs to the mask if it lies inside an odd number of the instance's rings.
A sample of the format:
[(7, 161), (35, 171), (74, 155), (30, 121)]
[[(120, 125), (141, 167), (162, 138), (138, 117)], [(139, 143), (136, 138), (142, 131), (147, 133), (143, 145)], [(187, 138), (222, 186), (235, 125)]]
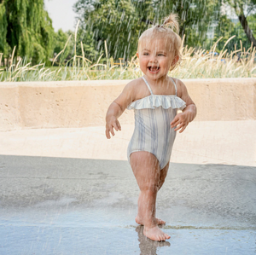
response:
[(256, 253), (256, 167), (172, 163), (166, 242), (134, 222), (138, 191), (127, 161), (0, 155), (0, 254)]

